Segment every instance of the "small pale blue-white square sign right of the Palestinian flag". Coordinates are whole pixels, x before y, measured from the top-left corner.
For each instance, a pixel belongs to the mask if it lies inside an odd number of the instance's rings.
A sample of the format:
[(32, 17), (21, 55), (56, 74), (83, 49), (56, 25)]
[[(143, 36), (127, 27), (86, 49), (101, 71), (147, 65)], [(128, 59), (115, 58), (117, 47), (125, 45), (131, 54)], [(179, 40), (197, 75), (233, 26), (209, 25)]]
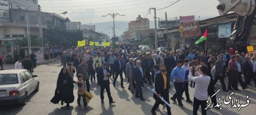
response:
[(231, 35), (231, 22), (218, 24), (218, 38), (227, 38)]

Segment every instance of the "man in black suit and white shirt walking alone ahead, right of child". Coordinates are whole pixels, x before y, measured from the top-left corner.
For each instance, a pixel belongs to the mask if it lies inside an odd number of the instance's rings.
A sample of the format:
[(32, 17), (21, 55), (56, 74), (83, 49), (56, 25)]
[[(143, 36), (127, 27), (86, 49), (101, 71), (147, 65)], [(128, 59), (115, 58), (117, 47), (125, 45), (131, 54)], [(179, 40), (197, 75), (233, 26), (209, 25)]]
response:
[(97, 78), (98, 78), (98, 83), (100, 84), (100, 99), (101, 99), (101, 103), (104, 103), (103, 99), (104, 99), (104, 89), (106, 89), (106, 93), (108, 94), (109, 97), (109, 103), (115, 103), (115, 101), (113, 101), (113, 98), (111, 97), (111, 93), (110, 93), (110, 80), (109, 80), (109, 76), (110, 76), (110, 69), (108, 67), (108, 63), (103, 63), (103, 66), (100, 67), (97, 71)]

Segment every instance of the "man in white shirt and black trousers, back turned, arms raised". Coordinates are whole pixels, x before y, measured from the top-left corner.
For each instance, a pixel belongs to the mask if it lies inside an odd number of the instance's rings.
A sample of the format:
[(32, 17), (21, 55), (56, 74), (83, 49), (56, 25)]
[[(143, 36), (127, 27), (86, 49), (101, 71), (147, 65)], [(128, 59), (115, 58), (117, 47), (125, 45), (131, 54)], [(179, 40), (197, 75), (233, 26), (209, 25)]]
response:
[(200, 67), (200, 73), (197, 71), (197, 75), (193, 77), (191, 72), (189, 73), (188, 80), (196, 82), (195, 91), (194, 91), (194, 103), (193, 103), (193, 114), (197, 114), (199, 106), (201, 105), (202, 114), (206, 114), (207, 99), (208, 99), (208, 85), (210, 83), (210, 77), (207, 76), (208, 68), (203, 65)]

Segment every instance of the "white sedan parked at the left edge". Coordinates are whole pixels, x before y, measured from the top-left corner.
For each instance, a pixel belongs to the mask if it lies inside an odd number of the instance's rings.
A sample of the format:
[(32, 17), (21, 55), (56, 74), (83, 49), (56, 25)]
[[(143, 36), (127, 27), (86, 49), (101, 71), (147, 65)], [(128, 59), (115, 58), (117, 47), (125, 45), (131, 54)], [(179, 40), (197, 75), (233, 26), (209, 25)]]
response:
[(28, 70), (0, 71), (0, 104), (27, 104), (28, 96), (39, 90), (37, 75)]

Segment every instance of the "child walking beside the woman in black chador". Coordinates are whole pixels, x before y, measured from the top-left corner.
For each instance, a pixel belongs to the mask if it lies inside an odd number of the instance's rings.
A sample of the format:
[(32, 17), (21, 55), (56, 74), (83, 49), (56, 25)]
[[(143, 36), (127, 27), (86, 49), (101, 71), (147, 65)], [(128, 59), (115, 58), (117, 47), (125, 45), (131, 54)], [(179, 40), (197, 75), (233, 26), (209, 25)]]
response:
[(82, 75), (79, 74), (77, 77), (78, 77), (78, 81), (77, 81), (77, 85), (78, 85), (77, 104), (78, 104), (79, 107), (81, 106), (80, 100), (81, 100), (81, 97), (82, 97), (83, 106), (84, 106), (85, 109), (87, 109), (88, 105), (87, 105), (87, 101), (86, 101), (86, 95), (84, 93), (84, 91), (86, 91), (86, 87), (84, 87), (84, 81), (82, 80)]

